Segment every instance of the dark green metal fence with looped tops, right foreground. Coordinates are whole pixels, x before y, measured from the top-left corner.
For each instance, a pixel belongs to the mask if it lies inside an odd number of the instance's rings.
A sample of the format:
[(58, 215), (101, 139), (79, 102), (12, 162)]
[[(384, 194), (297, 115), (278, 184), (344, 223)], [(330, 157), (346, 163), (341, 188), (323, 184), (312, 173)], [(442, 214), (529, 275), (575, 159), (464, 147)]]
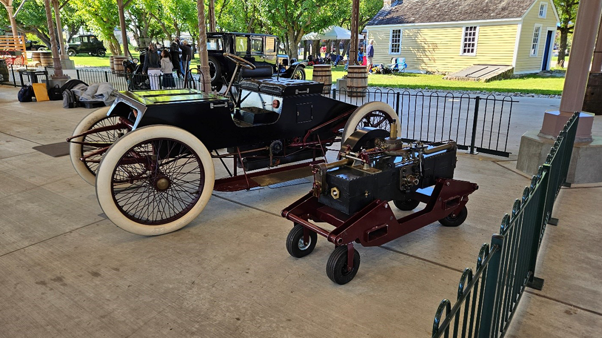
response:
[[(526, 287), (540, 289), (534, 275), (539, 245), (551, 218), (554, 201), (566, 182), (579, 113), (568, 120), (512, 213), (501, 221), (491, 245), (481, 246), (476, 271), (464, 270), (458, 298), (443, 299), (435, 313), (432, 337), (497, 338), (506, 334)], [(443, 316), (445, 314), (445, 316)]]

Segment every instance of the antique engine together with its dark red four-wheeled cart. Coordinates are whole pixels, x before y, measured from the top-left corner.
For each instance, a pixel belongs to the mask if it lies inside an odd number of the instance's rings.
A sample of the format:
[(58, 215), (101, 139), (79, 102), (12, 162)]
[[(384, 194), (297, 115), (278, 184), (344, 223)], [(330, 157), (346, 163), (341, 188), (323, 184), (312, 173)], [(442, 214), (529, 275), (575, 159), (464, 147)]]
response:
[[(337, 284), (349, 283), (359, 268), (353, 243), (383, 245), (433, 222), (461, 225), (468, 214), (468, 195), (477, 184), (453, 180), (456, 143), (405, 143), (391, 131), (356, 130), (342, 143), (341, 160), (314, 164), (311, 192), (282, 210), (293, 221), (287, 250), (305, 257), (315, 248), (317, 234), (334, 243), (326, 274)], [(389, 201), (400, 210), (425, 207), (397, 219)], [(334, 227), (326, 228), (314, 222)]]

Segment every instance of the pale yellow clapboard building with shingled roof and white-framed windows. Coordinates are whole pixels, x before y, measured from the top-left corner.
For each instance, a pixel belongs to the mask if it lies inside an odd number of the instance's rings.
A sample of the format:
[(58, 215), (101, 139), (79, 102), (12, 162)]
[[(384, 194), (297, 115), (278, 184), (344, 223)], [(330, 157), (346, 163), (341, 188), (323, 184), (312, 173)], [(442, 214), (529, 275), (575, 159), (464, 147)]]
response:
[(374, 64), (405, 58), (406, 72), (455, 72), (473, 64), (550, 69), (556, 25), (551, 0), (385, 0), (366, 26)]

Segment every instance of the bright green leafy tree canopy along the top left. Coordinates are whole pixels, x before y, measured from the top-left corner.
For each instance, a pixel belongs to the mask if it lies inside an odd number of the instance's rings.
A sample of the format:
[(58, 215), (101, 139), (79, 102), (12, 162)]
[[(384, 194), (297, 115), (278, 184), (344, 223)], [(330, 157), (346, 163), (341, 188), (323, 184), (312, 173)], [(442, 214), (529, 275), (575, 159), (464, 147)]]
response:
[[(22, 0), (16, 0), (15, 9)], [(209, 1), (205, 8), (209, 8)], [(352, 0), (213, 0), (218, 31), (268, 33), (279, 36), (285, 50), (296, 55), (301, 37), (330, 25), (350, 27)], [(62, 4), (63, 0), (60, 0)], [(360, 1), (360, 30), (382, 8), (383, 0)], [(134, 39), (142, 44), (155, 40), (171, 40), (190, 34), (197, 37), (196, 0), (131, 0), (125, 10), (126, 25)], [(206, 15), (206, 17), (209, 17)], [(98, 34), (111, 52), (120, 54), (119, 14), (116, 0), (70, 0), (61, 9), (67, 28), (67, 39), (80, 27)], [(42, 0), (26, 0), (16, 17), (19, 31), (34, 34), (49, 45)], [(6, 29), (7, 13), (0, 8), (0, 30)], [(10, 30), (8, 30), (10, 31)]]

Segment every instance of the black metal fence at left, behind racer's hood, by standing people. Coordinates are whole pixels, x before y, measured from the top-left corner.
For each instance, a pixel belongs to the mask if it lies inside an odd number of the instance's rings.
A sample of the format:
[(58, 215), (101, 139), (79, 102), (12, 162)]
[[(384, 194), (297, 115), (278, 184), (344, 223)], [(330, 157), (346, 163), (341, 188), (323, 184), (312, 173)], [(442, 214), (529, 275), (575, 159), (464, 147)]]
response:
[(165, 75), (131, 74), (100, 69), (77, 69), (78, 80), (87, 84), (110, 83), (116, 90), (157, 90), (157, 89), (200, 89), (202, 74), (197, 69), (191, 69), (188, 77), (181, 78)]

